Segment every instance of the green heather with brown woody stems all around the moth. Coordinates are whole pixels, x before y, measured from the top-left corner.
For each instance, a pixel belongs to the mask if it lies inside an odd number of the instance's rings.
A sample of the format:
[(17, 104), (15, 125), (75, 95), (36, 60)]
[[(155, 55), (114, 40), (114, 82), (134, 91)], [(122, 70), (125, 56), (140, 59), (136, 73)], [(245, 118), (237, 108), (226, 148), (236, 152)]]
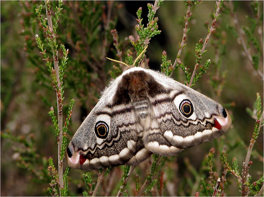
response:
[[(241, 16), (238, 2), (210, 2), (215, 7), (210, 8), (211, 19), (204, 21), (199, 15), (209, 18), (209, 13), (200, 9), (208, 2), (177, 2), (174, 9), (182, 11), (182, 15), (175, 12), (181, 16), (177, 22), (172, 14), (163, 19), (173, 3), (139, 5), (133, 12), (134, 33), (132, 29), (128, 33), (118, 27), (122, 2), (1, 2), (1, 16), (11, 13), (11, 19), (1, 21), (1, 186), (12, 184), (7, 173), (17, 180), (29, 177), (20, 183), (29, 192), (1, 190), (1, 195), (263, 196), (263, 92), (259, 89), (263, 87), (263, 3), (252, 1), (251, 12)], [(16, 21), (14, 13), (19, 13), (19, 31), (11, 31), (8, 25)], [(244, 23), (245, 19), (249, 22)], [(206, 31), (196, 23), (203, 23)], [(168, 31), (168, 37), (175, 36), (179, 45), (173, 45), (172, 39), (165, 47), (157, 47), (157, 38), (170, 28), (173, 33)], [(8, 36), (14, 38), (12, 42)], [(229, 61), (232, 66), (226, 64), (226, 59), (232, 59), (228, 54), (234, 53), (230, 42), (239, 44), (235, 51), (244, 55), (243, 64), (235, 60)], [(12, 50), (7, 50), (9, 45)], [(127, 69), (121, 62), (152, 68), (152, 59), (158, 59), (164, 75), (207, 89), (208, 96), (229, 111), (233, 127), (211, 143), (176, 156), (153, 154), (138, 166), (89, 172), (70, 169), (64, 158), (69, 139), (107, 82)], [(249, 71), (242, 76), (256, 87), (236, 78), (243, 69)], [(246, 106), (240, 103), (239, 82), (255, 91), (243, 94), (252, 101)], [(234, 91), (236, 85), (239, 88)], [(27, 117), (29, 123), (23, 120)], [(242, 131), (245, 134), (240, 135)], [(6, 161), (16, 161), (17, 172), (5, 172), (15, 168)]]

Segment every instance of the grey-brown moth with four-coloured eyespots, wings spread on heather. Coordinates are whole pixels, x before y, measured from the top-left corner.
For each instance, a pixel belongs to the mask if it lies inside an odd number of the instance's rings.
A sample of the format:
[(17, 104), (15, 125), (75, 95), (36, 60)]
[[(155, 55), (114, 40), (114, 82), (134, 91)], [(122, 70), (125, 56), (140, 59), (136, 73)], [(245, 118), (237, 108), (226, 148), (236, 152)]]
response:
[(138, 165), (223, 135), (232, 120), (211, 98), (153, 70), (134, 67), (110, 82), (67, 148), (68, 165), (89, 171)]

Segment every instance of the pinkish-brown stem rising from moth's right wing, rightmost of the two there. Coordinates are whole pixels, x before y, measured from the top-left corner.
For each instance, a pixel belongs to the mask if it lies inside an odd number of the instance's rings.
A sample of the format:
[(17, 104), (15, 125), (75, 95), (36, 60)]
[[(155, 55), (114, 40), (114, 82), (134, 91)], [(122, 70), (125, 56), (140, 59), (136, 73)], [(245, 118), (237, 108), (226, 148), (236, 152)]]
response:
[[(217, 20), (217, 18), (218, 18), (218, 16), (219, 16), (220, 3), (221, 3), (220, 0), (219, 0), (219, 1), (216, 1), (216, 13), (215, 13), (215, 17), (214, 17), (214, 20), (213, 20), (212, 25), (211, 25), (211, 27), (210, 27), (210, 30), (209, 30), (209, 32), (208, 32), (206, 38), (205, 38), (205, 42), (204, 42), (204, 45), (202, 46), (202, 50), (201, 50), (201, 53), (200, 53), (200, 54), (203, 54), (203, 53), (204, 53), (204, 51), (205, 51), (205, 47), (206, 47), (206, 45), (207, 45), (207, 43), (208, 43), (208, 41), (209, 41), (210, 35), (211, 35), (212, 32), (215, 30), (214, 27), (215, 27), (216, 20)], [(190, 82), (189, 82), (189, 84), (188, 84), (188, 87), (191, 87), (191, 85), (192, 85), (192, 81), (194, 80), (194, 76), (195, 76), (195, 73), (196, 73), (196, 71), (197, 71), (198, 68), (199, 68), (199, 64), (197, 63), (197, 64), (195, 64), (195, 66), (194, 66), (194, 71), (193, 71), (193, 73), (192, 73), (192, 76), (191, 76)]]

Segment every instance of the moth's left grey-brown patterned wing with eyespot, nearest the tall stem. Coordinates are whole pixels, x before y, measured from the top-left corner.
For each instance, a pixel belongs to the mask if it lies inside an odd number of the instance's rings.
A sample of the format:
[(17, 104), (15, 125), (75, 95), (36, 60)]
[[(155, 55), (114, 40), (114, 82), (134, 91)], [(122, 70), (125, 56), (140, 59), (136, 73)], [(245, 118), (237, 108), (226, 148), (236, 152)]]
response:
[(136, 165), (137, 153), (149, 156), (138, 143), (142, 130), (128, 95), (119, 87), (120, 77), (104, 91), (99, 102), (83, 121), (67, 148), (70, 167), (82, 170), (115, 165)]

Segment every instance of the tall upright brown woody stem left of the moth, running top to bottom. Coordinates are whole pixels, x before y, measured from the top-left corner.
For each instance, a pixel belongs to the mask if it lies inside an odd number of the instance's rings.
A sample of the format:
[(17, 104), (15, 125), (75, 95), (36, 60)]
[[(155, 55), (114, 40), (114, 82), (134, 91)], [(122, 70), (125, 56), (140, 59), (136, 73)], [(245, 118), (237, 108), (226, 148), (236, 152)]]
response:
[[(46, 14), (48, 20), (48, 27), (49, 32), (51, 33), (51, 38), (54, 39), (56, 42), (56, 36), (54, 35), (52, 19), (51, 19), (51, 11), (48, 5), (48, 2), (45, 0), (45, 7), (46, 7)], [(53, 46), (52, 53), (53, 53), (53, 60), (54, 60), (54, 69), (56, 72), (56, 79), (58, 82), (59, 93), (57, 92), (57, 107), (58, 107), (58, 126), (59, 126), (59, 138), (58, 138), (58, 175), (59, 175), (59, 188), (60, 190), (63, 189), (63, 161), (60, 161), (60, 149), (62, 146), (62, 134), (63, 134), (63, 120), (62, 120), (62, 98), (60, 94), (60, 79), (59, 79), (59, 61), (58, 61), (58, 51), (54, 49)], [(55, 51), (56, 50), (56, 51)], [(61, 196), (61, 191), (60, 191)]]

